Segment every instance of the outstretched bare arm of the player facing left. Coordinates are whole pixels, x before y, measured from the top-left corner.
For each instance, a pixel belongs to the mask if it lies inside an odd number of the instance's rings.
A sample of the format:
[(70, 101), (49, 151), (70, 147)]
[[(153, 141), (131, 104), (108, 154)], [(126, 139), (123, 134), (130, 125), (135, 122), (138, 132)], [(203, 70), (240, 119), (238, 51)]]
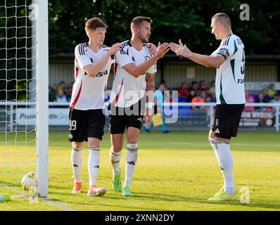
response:
[(182, 44), (181, 39), (179, 39), (179, 44), (171, 42), (169, 46), (170, 49), (177, 54), (177, 56), (189, 58), (190, 60), (207, 67), (217, 68), (224, 63), (224, 57), (222, 56), (204, 56), (198, 53), (193, 53), (189, 50), (186, 44)]

